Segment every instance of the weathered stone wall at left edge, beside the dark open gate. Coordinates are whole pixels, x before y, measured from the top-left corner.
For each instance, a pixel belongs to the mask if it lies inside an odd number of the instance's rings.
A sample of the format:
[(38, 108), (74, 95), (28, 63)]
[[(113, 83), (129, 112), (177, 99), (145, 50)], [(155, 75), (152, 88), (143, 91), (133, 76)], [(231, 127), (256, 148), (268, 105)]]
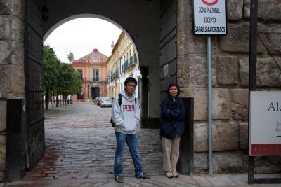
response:
[(24, 97), (23, 0), (0, 0), (0, 181), (6, 163), (6, 99)]

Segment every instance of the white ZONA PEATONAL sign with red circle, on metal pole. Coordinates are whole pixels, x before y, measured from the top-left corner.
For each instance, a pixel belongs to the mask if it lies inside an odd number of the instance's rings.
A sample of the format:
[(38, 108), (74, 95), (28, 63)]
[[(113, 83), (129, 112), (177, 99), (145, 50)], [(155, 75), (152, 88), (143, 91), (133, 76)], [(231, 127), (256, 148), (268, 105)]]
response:
[(226, 0), (193, 0), (193, 33), (226, 35)]

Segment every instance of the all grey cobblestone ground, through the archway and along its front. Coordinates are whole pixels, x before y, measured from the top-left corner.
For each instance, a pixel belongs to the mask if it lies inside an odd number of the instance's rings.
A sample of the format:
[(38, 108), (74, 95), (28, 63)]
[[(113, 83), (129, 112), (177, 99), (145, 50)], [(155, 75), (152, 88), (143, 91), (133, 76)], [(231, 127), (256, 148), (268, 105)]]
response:
[[(180, 175), (167, 179), (162, 172), (159, 130), (138, 129), (142, 165), (152, 179), (133, 177), (133, 162), (128, 148), (124, 155), (125, 183), (112, 176), (115, 134), (110, 124), (111, 108), (90, 102), (74, 103), (45, 111), (44, 158), (20, 181), (3, 186), (247, 186), (241, 175)], [(264, 185), (263, 185), (264, 186)], [(1, 184), (0, 184), (1, 187)]]

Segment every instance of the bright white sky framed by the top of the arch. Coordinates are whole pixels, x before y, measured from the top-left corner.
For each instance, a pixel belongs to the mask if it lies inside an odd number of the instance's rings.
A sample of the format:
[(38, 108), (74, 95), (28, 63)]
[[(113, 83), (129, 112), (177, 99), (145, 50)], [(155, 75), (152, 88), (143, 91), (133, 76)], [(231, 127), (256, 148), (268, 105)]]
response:
[(53, 48), (62, 62), (69, 62), (67, 54), (70, 52), (74, 54), (74, 59), (79, 59), (94, 48), (109, 57), (112, 41), (116, 43), (121, 32), (111, 22), (98, 18), (79, 18), (60, 25), (48, 36), (44, 45)]

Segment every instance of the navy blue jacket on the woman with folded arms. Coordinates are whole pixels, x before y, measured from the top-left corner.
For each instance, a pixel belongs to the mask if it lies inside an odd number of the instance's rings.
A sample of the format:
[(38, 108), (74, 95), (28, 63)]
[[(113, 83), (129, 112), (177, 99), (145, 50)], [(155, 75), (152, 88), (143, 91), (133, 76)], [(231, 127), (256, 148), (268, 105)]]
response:
[(160, 135), (169, 139), (176, 133), (183, 135), (185, 131), (185, 106), (183, 100), (176, 97), (175, 101), (168, 96), (161, 102)]

